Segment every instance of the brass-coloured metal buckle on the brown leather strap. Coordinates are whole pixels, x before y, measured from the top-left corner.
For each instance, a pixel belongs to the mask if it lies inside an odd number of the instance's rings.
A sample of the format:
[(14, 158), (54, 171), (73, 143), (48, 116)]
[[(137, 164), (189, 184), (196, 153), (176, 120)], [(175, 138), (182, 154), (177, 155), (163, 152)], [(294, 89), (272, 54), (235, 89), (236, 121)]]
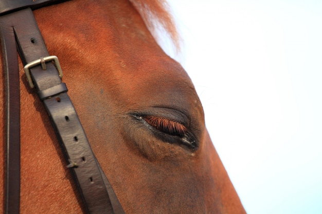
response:
[(53, 61), (54, 62), (54, 65), (55, 65), (55, 67), (58, 70), (59, 76), (60, 77), (63, 77), (63, 71), (62, 71), (62, 68), (60, 67), (59, 60), (58, 60), (58, 57), (57, 56), (46, 56), (46, 57), (42, 57), (39, 60), (35, 60), (35, 61), (32, 61), (32, 62), (28, 63), (24, 67), (25, 73), (26, 73), (26, 76), (27, 76), (27, 80), (28, 80), (29, 86), (31, 88), (33, 88), (34, 85), (32, 83), (32, 79), (31, 79), (31, 75), (30, 75), (30, 68), (32, 68), (34, 66), (41, 65), (41, 68), (43, 70), (46, 70), (45, 63), (46, 62), (49, 62), (49, 61)]

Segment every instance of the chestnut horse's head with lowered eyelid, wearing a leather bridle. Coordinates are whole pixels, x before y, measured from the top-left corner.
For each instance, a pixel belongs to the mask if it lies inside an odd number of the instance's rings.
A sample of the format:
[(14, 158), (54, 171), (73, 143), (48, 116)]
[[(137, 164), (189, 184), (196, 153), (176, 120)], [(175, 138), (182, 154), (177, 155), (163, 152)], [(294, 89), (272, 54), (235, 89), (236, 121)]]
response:
[[(63, 1), (33, 14), (124, 213), (245, 213), (188, 74), (151, 33), (152, 14), (176, 40), (162, 1)], [(19, 67), (20, 212), (85, 213), (46, 110)], [(4, 74), (0, 85), (5, 166)]]

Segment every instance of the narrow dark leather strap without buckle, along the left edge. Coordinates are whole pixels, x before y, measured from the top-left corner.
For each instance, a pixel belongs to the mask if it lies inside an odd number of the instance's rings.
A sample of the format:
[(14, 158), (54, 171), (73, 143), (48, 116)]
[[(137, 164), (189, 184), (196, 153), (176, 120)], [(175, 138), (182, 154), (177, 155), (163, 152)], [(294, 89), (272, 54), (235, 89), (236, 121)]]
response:
[(6, 78), (6, 213), (19, 213), (20, 201), (20, 81), (13, 28), (0, 17), (2, 58)]

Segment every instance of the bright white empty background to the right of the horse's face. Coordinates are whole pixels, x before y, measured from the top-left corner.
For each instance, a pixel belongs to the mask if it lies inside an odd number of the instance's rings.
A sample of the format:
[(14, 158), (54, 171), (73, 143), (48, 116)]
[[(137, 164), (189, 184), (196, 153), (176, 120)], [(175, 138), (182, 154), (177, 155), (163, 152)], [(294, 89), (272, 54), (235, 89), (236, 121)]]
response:
[(322, 1), (169, 1), (248, 214), (322, 213)]

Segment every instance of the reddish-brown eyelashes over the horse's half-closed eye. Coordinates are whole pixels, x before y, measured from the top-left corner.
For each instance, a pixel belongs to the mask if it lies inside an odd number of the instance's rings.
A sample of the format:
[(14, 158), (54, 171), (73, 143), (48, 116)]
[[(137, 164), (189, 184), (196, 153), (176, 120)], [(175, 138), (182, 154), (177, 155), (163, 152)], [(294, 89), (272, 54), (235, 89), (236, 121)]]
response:
[(179, 122), (159, 116), (145, 116), (144, 119), (154, 128), (173, 135), (183, 135), (187, 128)]

